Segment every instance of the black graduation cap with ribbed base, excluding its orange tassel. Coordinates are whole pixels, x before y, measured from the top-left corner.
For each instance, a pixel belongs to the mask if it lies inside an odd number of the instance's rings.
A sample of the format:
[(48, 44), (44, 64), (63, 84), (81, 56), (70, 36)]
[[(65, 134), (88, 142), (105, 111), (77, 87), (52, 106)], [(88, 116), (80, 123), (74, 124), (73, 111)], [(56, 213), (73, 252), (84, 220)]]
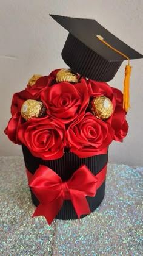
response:
[(62, 58), (73, 71), (81, 76), (108, 82), (113, 79), (122, 62), (127, 60), (102, 43), (97, 35), (104, 38), (104, 41), (113, 48), (127, 55), (129, 59), (143, 57), (95, 20), (59, 15), (50, 16), (68, 30), (69, 34), (62, 50)]

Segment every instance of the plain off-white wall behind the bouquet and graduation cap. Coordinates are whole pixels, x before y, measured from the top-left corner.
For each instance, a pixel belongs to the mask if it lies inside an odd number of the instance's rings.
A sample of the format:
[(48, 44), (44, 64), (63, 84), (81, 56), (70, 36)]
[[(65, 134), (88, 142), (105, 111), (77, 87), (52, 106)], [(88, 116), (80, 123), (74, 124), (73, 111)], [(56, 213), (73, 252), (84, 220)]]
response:
[[(21, 155), (3, 130), (10, 119), (12, 95), (33, 74), (65, 68), (61, 51), (68, 32), (49, 13), (93, 18), (143, 54), (142, 0), (0, 0), (0, 155)], [(130, 126), (124, 143), (110, 146), (110, 162), (143, 165), (143, 60), (131, 61)], [(125, 63), (109, 82), (122, 90)]]

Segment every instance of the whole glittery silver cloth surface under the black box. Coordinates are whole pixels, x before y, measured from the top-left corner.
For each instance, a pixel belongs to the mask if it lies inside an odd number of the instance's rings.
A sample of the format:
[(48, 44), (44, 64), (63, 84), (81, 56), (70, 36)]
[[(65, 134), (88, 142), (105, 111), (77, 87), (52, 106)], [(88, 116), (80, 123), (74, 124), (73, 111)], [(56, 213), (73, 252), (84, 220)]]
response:
[(31, 218), (22, 157), (0, 157), (0, 255), (143, 255), (143, 168), (108, 164), (101, 206), (79, 221)]

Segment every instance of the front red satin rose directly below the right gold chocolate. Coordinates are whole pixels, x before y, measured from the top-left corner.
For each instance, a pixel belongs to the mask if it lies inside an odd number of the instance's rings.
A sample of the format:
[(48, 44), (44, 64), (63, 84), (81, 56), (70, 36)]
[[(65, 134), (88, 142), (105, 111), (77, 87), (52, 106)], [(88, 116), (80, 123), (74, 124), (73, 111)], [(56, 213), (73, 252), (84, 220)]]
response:
[(86, 113), (79, 121), (68, 127), (67, 143), (70, 151), (78, 157), (91, 157), (106, 154), (113, 135), (114, 131), (109, 124), (91, 113)]

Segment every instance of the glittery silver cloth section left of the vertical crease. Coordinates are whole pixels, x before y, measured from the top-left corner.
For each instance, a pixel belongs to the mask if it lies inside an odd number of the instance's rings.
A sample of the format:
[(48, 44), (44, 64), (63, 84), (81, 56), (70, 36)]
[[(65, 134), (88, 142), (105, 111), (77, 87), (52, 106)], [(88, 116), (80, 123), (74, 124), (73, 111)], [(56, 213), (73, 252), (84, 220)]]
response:
[(52, 255), (55, 221), (48, 226), (44, 217), (31, 218), (30, 199), (22, 157), (0, 157), (1, 256)]

